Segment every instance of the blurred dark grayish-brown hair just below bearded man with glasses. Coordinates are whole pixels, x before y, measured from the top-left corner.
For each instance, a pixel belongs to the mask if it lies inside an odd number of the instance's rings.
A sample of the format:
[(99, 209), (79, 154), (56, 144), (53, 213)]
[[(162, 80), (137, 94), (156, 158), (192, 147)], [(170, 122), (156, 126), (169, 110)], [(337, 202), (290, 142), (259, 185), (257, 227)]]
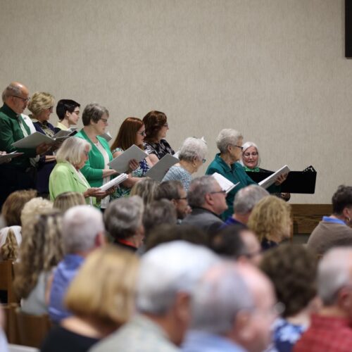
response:
[(152, 201), (146, 206), (143, 214), (143, 225), (146, 236), (149, 235), (151, 229), (158, 225), (170, 224), (175, 225), (177, 222), (177, 214), (175, 206), (168, 199), (160, 201)]

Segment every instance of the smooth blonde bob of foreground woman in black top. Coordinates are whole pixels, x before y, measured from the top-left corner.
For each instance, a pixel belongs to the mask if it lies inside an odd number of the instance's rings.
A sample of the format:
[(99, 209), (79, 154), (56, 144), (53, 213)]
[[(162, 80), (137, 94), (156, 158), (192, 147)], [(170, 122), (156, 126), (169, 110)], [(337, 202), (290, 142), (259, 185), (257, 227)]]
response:
[(70, 284), (65, 306), (81, 318), (120, 327), (134, 311), (138, 266), (139, 259), (130, 251), (113, 245), (96, 249)]

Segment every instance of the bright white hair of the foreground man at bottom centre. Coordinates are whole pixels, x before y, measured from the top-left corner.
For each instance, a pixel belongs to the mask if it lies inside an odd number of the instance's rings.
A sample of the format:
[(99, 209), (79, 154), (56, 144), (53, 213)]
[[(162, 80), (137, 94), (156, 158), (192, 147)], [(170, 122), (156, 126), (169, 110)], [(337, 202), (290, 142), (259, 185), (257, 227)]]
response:
[(186, 241), (160, 244), (141, 259), (137, 279), (137, 309), (165, 315), (180, 291), (190, 293), (201, 275), (220, 259), (206, 247)]

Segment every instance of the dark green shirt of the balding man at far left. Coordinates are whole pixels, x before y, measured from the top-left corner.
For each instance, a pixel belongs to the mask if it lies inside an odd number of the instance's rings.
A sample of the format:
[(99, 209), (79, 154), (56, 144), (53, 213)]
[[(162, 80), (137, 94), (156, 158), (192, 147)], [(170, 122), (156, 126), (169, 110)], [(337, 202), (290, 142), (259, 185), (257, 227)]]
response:
[[(13, 151), (24, 153), (23, 156), (13, 158), (10, 163), (6, 163), (6, 165), (25, 170), (30, 167), (30, 158), (35, 158), (37, 153), (35, 149), (15, 148), (12, 145), (14, 142), (25, 137), (21, 130), (19, 119), (22, 120), (20, 115), (17, 115), (6, 103), (0, 108), (0, 151), (6, 151), (6, 153)], [(23, 120), (22, 123), (29, 135), (30, 128)]]

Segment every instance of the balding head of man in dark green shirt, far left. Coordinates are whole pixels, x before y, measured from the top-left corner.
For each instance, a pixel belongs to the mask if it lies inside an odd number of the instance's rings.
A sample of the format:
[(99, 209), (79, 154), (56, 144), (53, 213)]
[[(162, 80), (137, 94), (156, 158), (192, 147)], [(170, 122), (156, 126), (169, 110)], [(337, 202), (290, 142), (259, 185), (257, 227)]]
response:
[(27, 108), (30, 92), (20, 82), (11, 82), (2, 93), (2, 101), (15, 113), (20, 114)]

